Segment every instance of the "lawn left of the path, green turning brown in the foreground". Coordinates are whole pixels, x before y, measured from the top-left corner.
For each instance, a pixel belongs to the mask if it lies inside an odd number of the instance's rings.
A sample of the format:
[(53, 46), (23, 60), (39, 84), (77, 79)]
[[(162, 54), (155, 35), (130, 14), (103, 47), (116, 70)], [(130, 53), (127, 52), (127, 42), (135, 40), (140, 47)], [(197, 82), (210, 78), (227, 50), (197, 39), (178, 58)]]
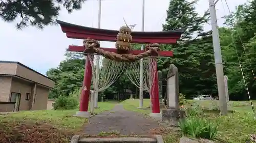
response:
[[(111, 110), (114, 102), (99, 102), (96, 113)], [(68, 143), (80, 134), (88, 119), (74, 117), (74, 110), (20, 111), (0, 116), (0, 142)]]

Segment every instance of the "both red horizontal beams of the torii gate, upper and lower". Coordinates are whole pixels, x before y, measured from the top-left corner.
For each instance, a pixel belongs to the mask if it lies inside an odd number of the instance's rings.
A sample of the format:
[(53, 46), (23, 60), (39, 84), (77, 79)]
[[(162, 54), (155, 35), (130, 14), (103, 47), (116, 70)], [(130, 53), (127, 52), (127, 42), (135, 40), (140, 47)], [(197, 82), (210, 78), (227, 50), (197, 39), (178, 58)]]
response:
[[(86, 27), (68, 22), (56, 20), (61, 26), (63, 33), (66, 33), (68, 38), (73, 39), (86, 39), (91, 38), (98, 41), (116, 41), (116, 36), (119, 31), (115, 30), (104, 30), (100, 28)], [(162, 32), (133, 32), (132, 43), (158, 43), (158, 44), (176, 44), (177, 40), (181, 37), (184, 32), (183, 29), (173, 31), (162, 31)], [(105, 51), (116, 52), (116, 48), (102, 48)], [(69, 46), (69, 51), (82, 52), (83, 46)], [(142, 53), (142, 50), (131, 50), (131, 54)], [(159, 51), (159, 56), (173, 56), (173, 51)]]

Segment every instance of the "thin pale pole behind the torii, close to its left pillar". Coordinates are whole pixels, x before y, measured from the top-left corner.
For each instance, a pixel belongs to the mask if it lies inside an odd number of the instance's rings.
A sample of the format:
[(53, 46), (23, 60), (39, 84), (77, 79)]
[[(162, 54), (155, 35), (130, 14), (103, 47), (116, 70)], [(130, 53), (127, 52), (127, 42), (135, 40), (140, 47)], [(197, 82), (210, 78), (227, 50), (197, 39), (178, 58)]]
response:
[[(99, 1), (99, 7), (98, 7), (98, 28), (100, 28), (100, 19), (101, 19), (101, 0)], [(98, 108), (98, 95), (99, 95), (99, 55), (96, 55), (96, 73), (95, 73), (95, 94), (94, 94), (94, 107)]]

